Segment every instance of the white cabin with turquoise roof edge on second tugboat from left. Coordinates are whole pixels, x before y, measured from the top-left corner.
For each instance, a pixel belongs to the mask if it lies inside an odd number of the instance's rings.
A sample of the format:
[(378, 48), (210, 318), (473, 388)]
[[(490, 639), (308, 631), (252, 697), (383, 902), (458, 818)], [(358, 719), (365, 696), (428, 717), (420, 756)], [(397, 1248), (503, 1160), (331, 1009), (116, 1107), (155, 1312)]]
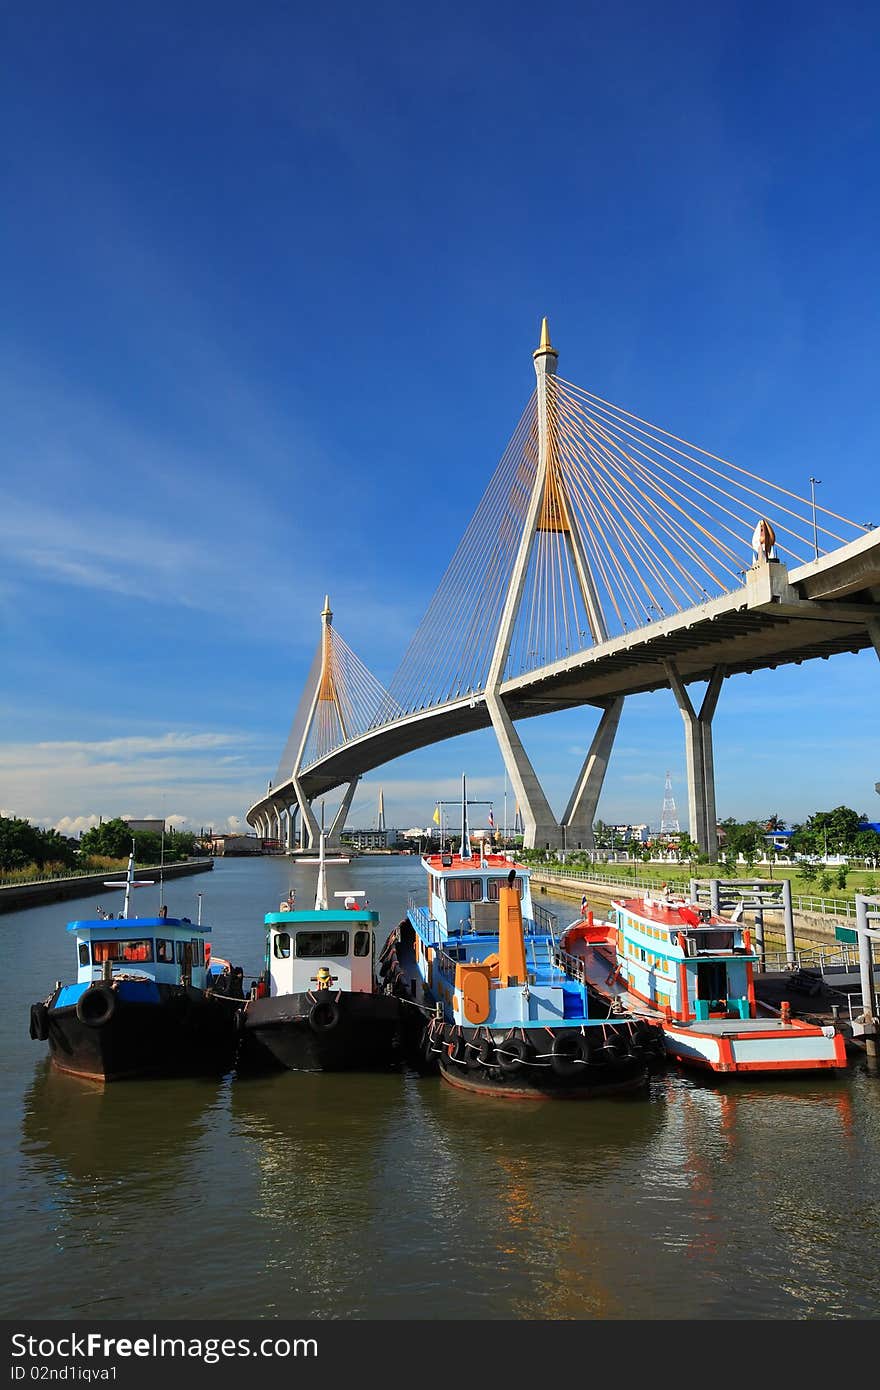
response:
[(378, 912), (364, 908), (267, 912), (264, 920), (270, 995), (318, 988), (373, 994)]

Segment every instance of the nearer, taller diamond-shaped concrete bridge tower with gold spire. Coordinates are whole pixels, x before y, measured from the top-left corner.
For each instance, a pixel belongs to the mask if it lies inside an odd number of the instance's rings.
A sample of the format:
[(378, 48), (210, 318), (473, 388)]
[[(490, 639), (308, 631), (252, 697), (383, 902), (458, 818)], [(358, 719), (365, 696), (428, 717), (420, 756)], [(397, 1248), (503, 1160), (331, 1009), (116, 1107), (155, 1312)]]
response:
[(535, 538), (541, 532), (555, 534), (560, 545), (567, 548), (584, 600), (592, 639), (594, 642), (603, 642), (608, 638), (608, 626), (584, 550), (584, 542), (578, 527), (571, 524), (571, 509), (559, 463), (557, 425), (552, 411), (548, 410), (548, 378), (556, 374), (559, 353), (551, 343), (551, 331), (546, 318), (541, 324), (541, 342), (532, 353), (532, 359), (538, 378), (538, 467), (487, 676), (485, 702), (502, 758), (505, 759), (507, 776), (514, 788), (517, 802), (523, 808), (524, 845), (528, 848), (546, 847), (548, 849), (563, 851), (576, 848), (592, 849), (592, 823), (620, 723), (623, 696), (614, 696), (601, 706), (603, 712), (599, 727), (574, 783), (562, 821), (557, 821), (500, 694), (507, 656), (510, 653), (510, 641), (523, 600), (528, 563)]

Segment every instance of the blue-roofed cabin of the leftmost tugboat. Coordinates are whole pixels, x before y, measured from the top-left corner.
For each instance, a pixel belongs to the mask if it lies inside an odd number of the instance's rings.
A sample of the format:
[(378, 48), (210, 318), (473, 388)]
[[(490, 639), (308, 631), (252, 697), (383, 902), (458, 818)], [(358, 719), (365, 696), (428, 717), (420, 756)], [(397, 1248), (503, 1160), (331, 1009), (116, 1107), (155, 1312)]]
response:
[(207, 927), (188, 917), (99, 917), (71, 922), (76, 941), (78, 984), (113, 977), (179, 984), (188, 976), (204, 990), (211, 944)]

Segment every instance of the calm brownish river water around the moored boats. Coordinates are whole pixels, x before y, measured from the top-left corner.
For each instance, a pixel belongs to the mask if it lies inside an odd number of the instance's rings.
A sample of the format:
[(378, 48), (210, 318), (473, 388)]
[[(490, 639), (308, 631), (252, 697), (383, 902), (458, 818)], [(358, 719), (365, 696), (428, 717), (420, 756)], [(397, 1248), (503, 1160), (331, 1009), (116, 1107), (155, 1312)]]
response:
[[(260, 967), (314, 867), (217, 860), (165, 887)], [(391, 930), (414, 858), (360, 858)], [(157, 888), (138, 910), (157, 908)], [(106, 890), (104, 903), (111, 894)], [(556, 906), (564, 923), (571, 903)], [(121, 905), (121, 902), (120, 902)], [(49, 1070), (28, 1009), (71, 979), (90, 899), (0, 919), (4, 1318), (877, 1318), (880, 1079), (706, 1083), (510, 1104), (438, 1077), (131, 1081)]]

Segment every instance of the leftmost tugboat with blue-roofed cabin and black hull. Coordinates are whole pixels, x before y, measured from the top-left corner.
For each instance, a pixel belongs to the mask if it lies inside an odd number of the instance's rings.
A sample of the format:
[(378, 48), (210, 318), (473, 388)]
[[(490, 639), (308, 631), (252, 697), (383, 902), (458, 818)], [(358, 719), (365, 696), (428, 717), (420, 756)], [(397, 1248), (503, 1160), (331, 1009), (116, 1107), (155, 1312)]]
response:
[(206, 990), (207, 927), (189, 917), (129, 916), (135, 853), (118, 917), (68, 923), (76, 947), (75, 984), (56, 981), (31, 1005), (31, 1037), (49, 1042), (53, 1066), (93, 1081), (140, 1076), (222, 1074), (235, 1058), (231, 999)]

